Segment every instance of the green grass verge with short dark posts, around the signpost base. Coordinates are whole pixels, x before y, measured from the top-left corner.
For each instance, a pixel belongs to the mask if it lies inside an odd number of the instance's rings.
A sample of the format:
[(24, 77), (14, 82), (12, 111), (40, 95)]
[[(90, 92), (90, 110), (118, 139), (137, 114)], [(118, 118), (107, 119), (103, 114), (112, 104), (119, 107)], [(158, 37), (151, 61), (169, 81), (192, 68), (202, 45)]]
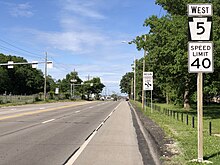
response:
[[(132, 102), (134, 104), (134, 102)], [(139, 109), (141, 104), (137, 103)], [(167, 137), (172, 138), (175, 141), (176, 149), (179, 154), (172, 157), (171, 160), (166, 161), (164, 164), (169, 165), (194, 165), (199, 163), (190, 162), (190, 160), (197, 159), (197, 118), (196, 109), (190, 109), (185, 111), (181, 107), (157, 104), (163, 108), (169, 108), (177, 112), (184, 113), (184, 122), (174, 119), (173, 116), (167, 116), (156, 110), (151, 113), (149, 107), (147, 107), (145, 115), (154, 120), (157, 124), (162, 127)], [(186, 125), (186, 115), (189, 115), (189, 125)], [(195, 127), (192, 128), (192, 116), (195, 117)], [(206, 106), (204, 107), (204, 129), (203, 129), (203, 148), (204, 148), (204, 159), (213, 162), (214, 165), (220, 165), (220, 137), (209, 136), (209, 122), (212, 122), (213, 133), (220, 134), (220, 106)]]

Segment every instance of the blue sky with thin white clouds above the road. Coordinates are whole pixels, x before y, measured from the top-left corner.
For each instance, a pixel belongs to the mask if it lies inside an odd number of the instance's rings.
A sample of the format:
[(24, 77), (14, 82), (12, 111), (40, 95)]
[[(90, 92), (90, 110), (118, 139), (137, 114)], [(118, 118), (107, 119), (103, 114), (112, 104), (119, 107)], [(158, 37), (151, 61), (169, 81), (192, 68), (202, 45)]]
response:
[(100, 77), (108, 94), (120, 93), (134, 57), (143, 57), (126, 42), (163, 14), (155, 0), (0, 0), (0, 13), (0, 53), (41, 62), (47, 52), (55, 80), (75, 70), (83, 81)]

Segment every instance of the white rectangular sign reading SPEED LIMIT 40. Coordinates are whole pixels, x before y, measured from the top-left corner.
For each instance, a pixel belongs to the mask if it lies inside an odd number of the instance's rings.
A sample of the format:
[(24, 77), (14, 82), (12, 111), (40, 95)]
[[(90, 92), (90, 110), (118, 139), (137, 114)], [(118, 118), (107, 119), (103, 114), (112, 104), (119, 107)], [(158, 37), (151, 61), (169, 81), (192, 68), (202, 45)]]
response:
[(188, 49), (188, 70), (190, 73), (214, 71), (212, 42), (189, 42)]

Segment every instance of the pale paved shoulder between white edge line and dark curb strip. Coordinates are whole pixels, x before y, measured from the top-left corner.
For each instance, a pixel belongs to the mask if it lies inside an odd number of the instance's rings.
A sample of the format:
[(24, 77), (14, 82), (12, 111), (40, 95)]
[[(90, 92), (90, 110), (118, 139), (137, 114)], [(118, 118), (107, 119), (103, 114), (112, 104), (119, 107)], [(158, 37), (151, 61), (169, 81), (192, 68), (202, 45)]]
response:
[(121, 102), (74, 165), (143, 165), (127, 102)]

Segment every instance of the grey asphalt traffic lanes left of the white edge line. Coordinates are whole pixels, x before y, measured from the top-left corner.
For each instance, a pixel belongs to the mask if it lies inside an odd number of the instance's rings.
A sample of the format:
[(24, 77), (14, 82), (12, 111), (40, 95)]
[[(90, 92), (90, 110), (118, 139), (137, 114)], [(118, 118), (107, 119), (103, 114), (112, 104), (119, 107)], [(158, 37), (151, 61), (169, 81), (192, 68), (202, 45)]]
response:
[(64, 164), (119, 102), (81, 104), (0, 108), (0, 164)]

